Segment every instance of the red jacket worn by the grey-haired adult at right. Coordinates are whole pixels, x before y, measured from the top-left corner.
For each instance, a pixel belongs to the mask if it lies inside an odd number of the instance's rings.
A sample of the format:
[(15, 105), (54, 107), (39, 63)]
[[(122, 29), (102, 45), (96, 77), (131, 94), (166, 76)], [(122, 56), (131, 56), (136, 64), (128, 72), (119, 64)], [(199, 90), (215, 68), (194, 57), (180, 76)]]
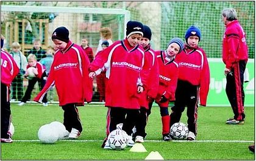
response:
[(248, 60), (246, 34), (237, 20), (226, 26), (226, 32), (222, 43), (222, 60), (227, 69), (232, 69), (234, 63), (240, 60)]

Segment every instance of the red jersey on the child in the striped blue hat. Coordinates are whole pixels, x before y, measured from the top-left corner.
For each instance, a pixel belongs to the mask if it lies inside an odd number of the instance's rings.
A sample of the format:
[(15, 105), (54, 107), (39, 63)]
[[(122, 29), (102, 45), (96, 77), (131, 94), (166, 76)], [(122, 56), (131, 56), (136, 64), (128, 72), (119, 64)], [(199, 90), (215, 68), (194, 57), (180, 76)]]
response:
[[(155, 101), (159, 106), (167, 107), (169, 101), (175, 100), (179, 66), (176, 61), (174, 61), (174, 58), (171, 60), (166, 57), (165, 51), (158, 50), (156, 53), (159, 67), (159, 87)], [(164, 95), (169, 101), (160, 103), (162, 95)]]

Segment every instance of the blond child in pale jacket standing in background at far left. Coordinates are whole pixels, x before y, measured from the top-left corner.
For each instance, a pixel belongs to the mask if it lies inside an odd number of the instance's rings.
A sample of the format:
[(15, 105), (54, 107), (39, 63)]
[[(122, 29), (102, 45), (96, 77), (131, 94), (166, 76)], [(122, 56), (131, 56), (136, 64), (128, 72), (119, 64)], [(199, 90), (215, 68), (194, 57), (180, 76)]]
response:
[(27, 67), (27, 58), (23, 53), (20, 51), (21, 47), (18, 42), (12, 43), (12, 50), (10, 55), (12, 55), (13, 59), (15, 60), (16, 64), (18, 65), (20, 72), (12, 81), (12, 101), (18, 99), (21, 101), (23, 97), (23, 75), (26, 72)]

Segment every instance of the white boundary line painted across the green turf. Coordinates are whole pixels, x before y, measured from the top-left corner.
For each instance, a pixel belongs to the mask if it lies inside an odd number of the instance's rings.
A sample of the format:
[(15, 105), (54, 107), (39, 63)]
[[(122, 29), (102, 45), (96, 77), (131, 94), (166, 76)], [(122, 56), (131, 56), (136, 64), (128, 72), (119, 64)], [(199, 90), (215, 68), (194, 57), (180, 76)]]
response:
[[(60, 142), (102, 142), (102, 140), (59, 140)], [(40, 140), (13, 140), (13, 142), (40, 142)], [(166, 142), (164, 140), (144, 140), (144, 142)], [(233, 142), (233, 143), (254, 143), (252, 140), (171, 140), (171, 142)]]

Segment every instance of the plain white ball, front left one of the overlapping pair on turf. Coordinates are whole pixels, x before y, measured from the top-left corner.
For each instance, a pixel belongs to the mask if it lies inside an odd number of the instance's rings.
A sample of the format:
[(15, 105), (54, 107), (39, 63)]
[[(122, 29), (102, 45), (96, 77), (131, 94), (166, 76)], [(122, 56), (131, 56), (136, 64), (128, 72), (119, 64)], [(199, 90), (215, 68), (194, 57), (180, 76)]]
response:
[(42, 143), (55, 143), (59, 139), (59, 134), (51, 125), (46, 124), (38, 130), (38, 139)]

